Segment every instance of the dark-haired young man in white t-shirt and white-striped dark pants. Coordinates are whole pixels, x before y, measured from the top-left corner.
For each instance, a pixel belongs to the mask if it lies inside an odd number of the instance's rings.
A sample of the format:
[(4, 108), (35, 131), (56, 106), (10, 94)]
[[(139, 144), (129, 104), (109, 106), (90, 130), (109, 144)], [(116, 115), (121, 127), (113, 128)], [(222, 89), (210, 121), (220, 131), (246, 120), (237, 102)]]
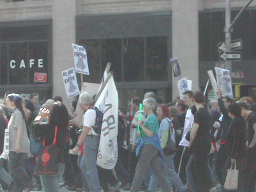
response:
[(194, 123), (194, 115), (191, 112), (191, 108), (194, 106), (193, 92), (185, 91), (183, 93), (183, 100), (189, 109), (187, 110), (185, 116), (183, 134), (177, 152), (177, 160), (179, 162), (178, 175), (180, 176), (182, 182), (186, 184), (186, 166), (190, 158), (190, 154), (188, 153), (189, 141), (186, 140), (186, 134), (192, 129)]

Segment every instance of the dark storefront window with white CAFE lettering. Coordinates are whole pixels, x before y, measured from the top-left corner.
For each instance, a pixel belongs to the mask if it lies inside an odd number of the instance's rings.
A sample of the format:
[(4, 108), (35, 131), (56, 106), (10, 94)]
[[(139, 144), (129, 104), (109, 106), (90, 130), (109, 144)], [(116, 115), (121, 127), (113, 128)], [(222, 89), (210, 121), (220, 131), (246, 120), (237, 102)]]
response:
[(0, 44), (0, 84), (34, 84), (35, 72), (48, 72), (48, 43)]

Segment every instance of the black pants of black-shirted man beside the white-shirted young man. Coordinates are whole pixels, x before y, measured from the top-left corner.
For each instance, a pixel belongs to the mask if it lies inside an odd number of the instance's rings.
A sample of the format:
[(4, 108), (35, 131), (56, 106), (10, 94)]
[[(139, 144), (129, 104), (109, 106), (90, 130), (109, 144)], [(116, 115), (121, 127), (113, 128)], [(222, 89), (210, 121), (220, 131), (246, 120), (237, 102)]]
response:
[(192, 156), (192, 172), (196, 182), (198, 192), (209, 192), (212, 186), (210, 174), (208, 172), (208, 156)]

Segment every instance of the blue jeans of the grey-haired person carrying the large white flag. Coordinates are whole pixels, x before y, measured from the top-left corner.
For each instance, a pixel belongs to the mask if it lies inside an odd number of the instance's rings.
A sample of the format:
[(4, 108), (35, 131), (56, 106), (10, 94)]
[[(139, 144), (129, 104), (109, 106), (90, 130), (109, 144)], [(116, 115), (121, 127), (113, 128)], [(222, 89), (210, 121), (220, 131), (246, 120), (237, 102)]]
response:
[(99, 144), (100, 136), (88, 135), (84, 141), (84, 155), (82, 157), (81, 166), (90, 192), (100, 192), (101, 190), (96, 165)]

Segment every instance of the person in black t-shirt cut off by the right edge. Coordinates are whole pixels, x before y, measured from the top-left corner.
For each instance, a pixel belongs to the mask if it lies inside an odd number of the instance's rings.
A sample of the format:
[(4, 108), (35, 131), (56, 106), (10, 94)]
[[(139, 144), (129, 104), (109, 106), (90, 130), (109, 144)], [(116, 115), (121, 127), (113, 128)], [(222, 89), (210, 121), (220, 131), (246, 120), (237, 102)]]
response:
[(244, 192), (254, 191), (256, 174), (256, 112), (249, 110), (245, 102), (238, 102), (241, 107), (241, 115), (246, 118), (246, 134), (248, 152), (246, 155), (245, 166), (242, 170), (242, 181)]

